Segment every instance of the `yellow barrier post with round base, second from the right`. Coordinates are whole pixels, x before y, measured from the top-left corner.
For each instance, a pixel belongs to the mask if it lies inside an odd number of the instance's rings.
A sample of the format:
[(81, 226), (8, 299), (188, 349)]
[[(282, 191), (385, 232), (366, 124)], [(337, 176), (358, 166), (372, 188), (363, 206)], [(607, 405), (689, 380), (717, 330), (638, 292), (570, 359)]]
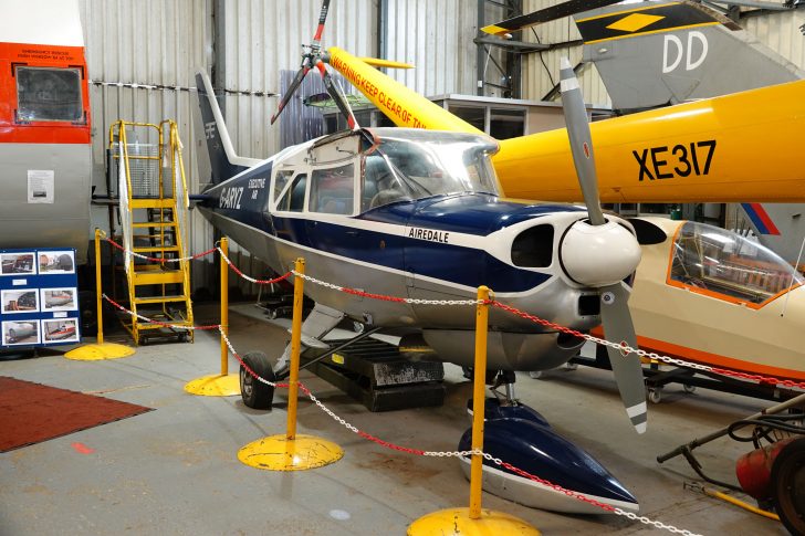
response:
[(314, 435), (296, 434), (299, 398), (299, 362), (302, 349), (302, 303), (304, 301), (304, 259), (296, 259), (293, 280), (293, 320), (291, 323), (291, 370), (288, 379), (288, 429), (253, 441), (238, 451), (244, 464), (269, 471), (304, 471), (337, 462), (344, 451), (332, 441)]

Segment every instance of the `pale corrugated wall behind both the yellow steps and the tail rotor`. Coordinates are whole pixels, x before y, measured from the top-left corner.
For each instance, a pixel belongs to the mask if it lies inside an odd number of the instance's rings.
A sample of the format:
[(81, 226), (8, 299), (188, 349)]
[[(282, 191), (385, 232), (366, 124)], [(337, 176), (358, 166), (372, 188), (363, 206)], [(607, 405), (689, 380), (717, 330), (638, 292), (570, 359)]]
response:
[[(226, 87), (247, 92), (280, 92), (280, 71), (296, 70), (300, 45), (310, 43), (321, 0), (227, 0)], [(212, 65), (213, 0), (83, 0), (90, 78), (103, 83), (195, 87), (194, 72)], [(377, 0), (333, 2), (323, 44), (337, 44), (357, 55), (376, 55)], [(313, 74), (311, 74), (313, 75)], [(109, 125), (117, 119), (159, 123), (174, 119), (185, 145), (190, 191), (198, 191), (188, 91), (159, 91), (117, 85), (92, 85), (93, 161), (96, 192), (105, 193), (104, 160)], [(279, 149), (279, 127), (269, 119), (276, 97), (228, 95), (227, 124), (236, 150), (268, 157)], [(286, 120), (292, 120), (288, 118)], [(106, 209), (95, 208), (93, 224), (107, 228)], [(212, 229), (194, 216), (192, 251), (210, 246)], [(247, 266), (253, 262), (233, 253)], [(195, 264), (195, 285), (213, 283), (209, 263)], [(259, 266), (254, 267), (260, 271)], [(248, 288), (251, 292), (253, 288)]]

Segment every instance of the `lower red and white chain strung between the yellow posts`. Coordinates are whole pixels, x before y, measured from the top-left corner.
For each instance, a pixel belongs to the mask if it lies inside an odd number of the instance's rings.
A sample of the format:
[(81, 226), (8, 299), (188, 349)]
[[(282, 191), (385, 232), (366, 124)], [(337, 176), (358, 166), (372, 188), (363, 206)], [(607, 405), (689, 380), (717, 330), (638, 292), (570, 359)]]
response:
[[(196, 330), (212, 330), (212, 329), (218, 329), (218, 332), (220, 333), (221, 337), (223, 338), (223, 340), (224, 340), (224, 343), (227, 345), (227, 348), (232, 354), (232, 356), (234, 356), (234, 358), (238, 360), (238, 362), (240, 364), (240, 366), (243, 367), (243, 370), (245, 370), (245, 372), (248, 375), (250, 375), (252, 378), (254, 378), (255, 380), (260, 381), (261, 383), (264, 383), (264, 385), (270, 386), (270, 387), (273, 387), (273, 388), (288, 388), (289, 387), (289, 383), (288, 382), (270, 381), (270, 380), (263, 378), (262, 376), (258, 375), (251, 367), (249, 367), (249, 365), (247, 365), (243, 361), (243, 359), (241, 358), (240, 354), (238, 354), (234, 350), (234, 347), (232, 346), (232, 341), (229, 339), (229, 337), (227, 336), (226, 330), (223, 329), (223, 326), (220, 325), (220, 324), (216, 324), (216, 325), (205, 325), (205, 326), (181, 326), (181, 325), (176, 325), (176, 324), (169, 324), (169, 323), (156, 320), (156, 319), (148, 318), (146, 316), (139, 315), (137, 313), (134, 313), (133, 311), (127, 309), (123, 305), (118, 304), (117, 302), (115, 302), (114, 299), (112, 299), (111, 297), (108, 297), (106, 294), (102, 294), (102, 296), (103, 296), (104, 299), (106, 299), (107, 302), (109, 302), (112, 305), (114, 305), (118, 309), (121, 309), (121, 311), (123, 311), (123, 312), (125, 312), (125, 313), (127, 313), (127, 314), (129, 314), (132, 316), (136, 316), (137, 318), (139, 318), (143, 322), (148, 322), (148, 323), (151, 323), (151, 324), (157, 324), (157, 325), (163, 326), (163, 327), (169, 327), (169, 328), (176, 328), (176, 329), (196, 329)], [(478, 301), (477, 299), (473, 299), (472, 302), (473, 303), (477, 303)], [(491, 301), (489, 301), (489, 302), (491, 302)], [(586, 497), (586, 496), (584, 496), (583, 494), (581, 494), (578, 492), (574, 492), (572, 490), (567, 490), (565, 487), (562, 487), (558, 484), (554, 484), (554, 483), (552, 483), (552, 482), (550, 482), (547, 480), (544, 480), (544, 479), (541, 479), (541, 477), (539, 477), (536, 475), (533, 475), (533, 474), (529, 473), (527, 471), (524, 471), (524, 470), (522, 470), (520, 467), (516, 467), (516, 466), (512, 465), (511, 463), (504, 462), (504, 461), (502, 461), (499, 458), (494, 458), (494, 456), (492, 456), (492, 454), (489, 454), (487, 452), (482, 452), (482, 451), (478, 451), (478, 450), (469, 450), (469, 451), (424, 451), (421, 449), (411, 449), (409, 446), (398, 445), (398, 444), (393, 443), (390, 441), (385, 441), (385, 440), (383, 440), (383, 439), (380, 439), (380, 438), (378, 438), (376, 435), (373, 435), (373, 434), (370, 434), (368, 432), (365, 432), (363, 430), (359, 430), (357, 427), (355, 427), (354, 424), (352, 424), (347, 420), (343, 419), (342, 417), (338, 417), (337, 413), (335, 413), (333, 410), (331, 410), (330, 408), (327, 408), (327, 406), (324, 402), (322, 402), (315, 395), (313, 395), (313, 391), (311, 391), (311, 389), (307, 386), (305, 386), (303, 382), (301, 382), (301, 381), (297, 382), (297, 386), (299, 386), (299, 389), (302, 392), (304, 392), (305, 396), (316, 407), (318, 407), (318, 409), (321, 409), (324, 413), (326, 413), (327, 416), (330, 416), (331, 419), (333, 419), (334, 421), (336, 421), (337, 423), (339, 423), (341, 425), (343, 425), (344, 428), (346, 428), (351, 432), (359, 435), (360, 438), (363, 438), (363, 439), (365, 439), (367, 441), (372, 441), (373, 443), (376, 443), (376, 444), (378, 444), (380, 446), (384, 446), (386, 449), (394, 450), (394, 451), (397, 451), (397, 452), (404, 452), (404, 453), (407, 453), (407, 454), (418, 455), (418, 456), (431, 456), (431, 458), (458, 458), (458, 459), (461, 459), (461, 458), (469, 458), (471, 455), (478, 454), (478, 455), (481, 455), (484, 459), (489, 460), (490, 462), (492, 462), (492, 463), (494, 463), (496, 465), (500, 465), (501, 467), (503, 467), (505, 470), (509, 470), (509, 471), (511, 471), (511, 472), (513, 472), (513, 473), (515, 473), (515, 474), (518, 474), (520, 476), (523, 476), (525, 479), (529, 479), (529, 480), (532, 480), (534, 482), (537, 482), (539, 484), (544, 485), (544, 486), (547, 486), (547, 487), (554, 490), (557, 493), (564, 493), (568, 497), (572, 497), (572, 498), (575, 498), (575, 500), (578, 500), (578, 501), (582, 501), (582, 502), (592, 504), (594, 506), (597, 506), (597, 507), (599, 507), (599, 508), (602, 508), (604, 511), (610, 512), (613, 514), (626, 516), (626, 517), (628, 517), (628, 518), (630, 518), (632, 521), (639, 521), (639, 522), (641, 522), (644, 524), (652, 525), (652, 526), (655, 526), (657, 528), (663, 528), (663, 529), (667, 529), (667, 530), (669, 530), (671, 533), (675, 533), (675, 534), (682, 534), (684, 536), (699, 536), (696, 533), (691, 533), (690, 530), (680, 529), (680, 528), (677, 528), (677, 527), (675, 527), (672, 525), (667, 525), (667, 524), (665, 524), (662, 522), (651, 521), (651, 519), (649, 519), (648, 517), (645, 517), (645, 516), (640, 517), (640, 516), (637, 516), (636, 514), (634, 514), (631, 512), (626, 512), (626, 511), (623, 511), (620, 508), (616, 508), (616, 507), (610, 506), (608, 504), (605, 504), (605, 503), (602, 503), (599, 501), (596, 501), (594, 498)]]

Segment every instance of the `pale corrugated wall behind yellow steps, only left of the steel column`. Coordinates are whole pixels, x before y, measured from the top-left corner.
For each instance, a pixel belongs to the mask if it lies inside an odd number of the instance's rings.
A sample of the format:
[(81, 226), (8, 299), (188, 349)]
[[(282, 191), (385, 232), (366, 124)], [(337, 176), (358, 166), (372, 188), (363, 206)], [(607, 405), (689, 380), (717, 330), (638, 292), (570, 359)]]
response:
[[(194, 69), (209, 70), (211, 10), (206, 0), (83, 0), (87, 70), (103, 83), (149, 84), (188, 88), (196, 85)], [(159, 123), (174, 119), (185, 150), (189, 189), (198, 191), (189, 91), (158, 91), (96, 85), (90, 90), (93, 123), (93, 183), (106, 193), (105, 151), (109, 125), (118, 119)], [(211, 230), (194, 217), (192, 251), (209, 248)], [(93, 209), (93, 225), (108, 228), (105, 208)], [(200, 278), (207, 273), (199, 263)]]

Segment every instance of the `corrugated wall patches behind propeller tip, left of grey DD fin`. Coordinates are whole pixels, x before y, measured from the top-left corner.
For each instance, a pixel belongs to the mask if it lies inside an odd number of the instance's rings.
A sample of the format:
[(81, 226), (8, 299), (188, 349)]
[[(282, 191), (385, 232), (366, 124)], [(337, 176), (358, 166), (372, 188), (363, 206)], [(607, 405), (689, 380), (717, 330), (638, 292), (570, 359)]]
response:
[[(523, 11), (530, 13), (547, 8), (563, 0), (525, 0)], [(539, 38), (539, 39), (537, 39)], [(573, 19), (565, 18), (523, 30), (523, 41), (563, 43), (582, 39)], [(582, 61), (582, 46), (569, 46), (555, 51), (533, 53), (523, 60), (523, 98), (540, 101), (560, 81), (560, 59), (567, 56), (572, 65)], [(544, 62), (544, 63), (543, 63)], [(588, 65), (578, 76), (584, 101), (597, 106), (610, 106), (609, 95), (594, 65)]]

